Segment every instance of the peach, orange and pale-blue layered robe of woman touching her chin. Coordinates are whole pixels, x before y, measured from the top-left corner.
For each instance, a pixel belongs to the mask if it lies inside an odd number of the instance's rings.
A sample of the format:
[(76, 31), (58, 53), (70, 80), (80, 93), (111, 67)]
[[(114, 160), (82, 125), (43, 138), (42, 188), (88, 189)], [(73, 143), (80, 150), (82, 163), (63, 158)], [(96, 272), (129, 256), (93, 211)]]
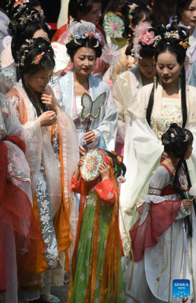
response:
[[(53, 93), (49, 85), (46, 91)], [(31, 277), (23, 288), (23, 297), (28, 300), (50, 292), (51, 285), (63, 285), (65, 252), (69, 270), (71, 233), (73, 236), (76, 233), (76, 223), (70, 224), (75, 210), (70, 183), (79, 160), (78, 136), (72, 119), (57, 103), (56, 123), (52, 127), (41, 127), (36, 110), (19, 83), (8, 96), (19, 102), (18, 117), (25, 130), (25, 155), (31, 171), (33, 211), (48, 245), (36, 262), (42, 276)]]

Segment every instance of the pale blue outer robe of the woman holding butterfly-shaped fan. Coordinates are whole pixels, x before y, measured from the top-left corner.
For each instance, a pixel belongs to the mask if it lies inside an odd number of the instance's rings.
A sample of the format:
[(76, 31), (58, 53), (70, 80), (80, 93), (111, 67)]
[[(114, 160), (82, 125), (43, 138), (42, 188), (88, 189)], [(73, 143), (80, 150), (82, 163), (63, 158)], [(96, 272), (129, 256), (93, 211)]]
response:
[[(73, 71), (59, 79), (62, 91), (61, 104), (66, 112), (73, 117), (74, 102), (74, 76)], [(92, 100), (95, 100), (101, 93), (106, 92), (106, 100), (101, 107), (98, 118), (92, 119), (90, 129), (97, 129), (103, 136), (105, 146), (108, 150), (114, 150), (117, 132), (118, 112), (114, 104), (111, 89), (105, 81), (99, 80), (92, 74), (89, 75), (89, 87)], [(98, 146), (105, 149), (105, 146)]]

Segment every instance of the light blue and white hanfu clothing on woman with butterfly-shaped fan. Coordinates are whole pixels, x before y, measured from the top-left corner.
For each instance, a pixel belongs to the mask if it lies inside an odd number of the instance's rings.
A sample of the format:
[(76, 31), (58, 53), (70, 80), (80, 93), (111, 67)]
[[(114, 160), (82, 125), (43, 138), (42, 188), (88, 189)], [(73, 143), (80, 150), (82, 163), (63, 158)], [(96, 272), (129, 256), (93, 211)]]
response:
[[(73, 70), (59, 79), (59, 84), (53, 87), (60, 105), (72, 117), (79, 135), (79, 142), (83, 144), (89, 118), (82, 119), (81, 97), (75, 96)], [(88, 130), (93, 130), (95, 139), (88, 145), (88, 149), (102, 148), (114, 150), (118, 112), (112, 97), (109, 85), (99, 80), (92, 74), (89, 75), (89, 95), (94, 101), (100, 94), (106, 93), (106, 99), (100, 108), (100, 114), (96, 119), (91, 119)]]

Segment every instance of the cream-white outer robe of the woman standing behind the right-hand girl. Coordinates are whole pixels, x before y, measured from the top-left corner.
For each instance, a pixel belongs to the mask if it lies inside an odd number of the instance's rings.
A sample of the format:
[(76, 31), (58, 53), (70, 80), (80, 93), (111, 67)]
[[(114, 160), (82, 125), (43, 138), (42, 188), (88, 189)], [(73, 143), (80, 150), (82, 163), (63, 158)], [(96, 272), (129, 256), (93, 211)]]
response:
[[(122, 217), (126, 231), (130, 230), (138, 219), (136, 206), (139, 207), (143, 202), (148, 191), (148, 181), (155, 173), (163, 153), (163, 145), (158, 140), (155, 133), (150, 128), (146, 120), (146, 110), (149, 103), (153, 84), (145, 85), (133, 97), (127, 113), (130, 115), (126, 130), (124, 146), (124, 164), (128, 167), (126, 182), (121, 185), (120, 204)], [(156, 90), (155, 102), (152, 111), (153, 118), (158, 116), (161, 106), (163, 88), (159, 84)], [(191, 158), (187, 161), (192, 183), (196, 180), (196, 89), (189, 86), (186, 93), (187, 122), (186, 128), (194, 136), (193, 151)], [(181, 98), (181, 90), (179, 91)], [(156, 121), (155, 121), (156, 122)], [(156, 123), (155, 123), (156, 126)], [(129, 244), (124, 233), (122, 220), (120, 219), (120, 231), (125, 255), (129, 258)], [(126, 247), (126, 248), (125, 248)]]

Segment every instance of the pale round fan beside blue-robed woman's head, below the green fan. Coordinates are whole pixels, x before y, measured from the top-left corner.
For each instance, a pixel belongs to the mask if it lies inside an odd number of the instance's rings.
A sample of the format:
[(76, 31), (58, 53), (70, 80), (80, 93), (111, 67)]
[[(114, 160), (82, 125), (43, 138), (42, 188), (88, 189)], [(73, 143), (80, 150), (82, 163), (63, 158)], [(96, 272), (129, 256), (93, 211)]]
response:
[(108, 43), (102, 48), (102, 59), (107, 64), (117, 63), (122, 56), (121, 49), (118, 45)]

